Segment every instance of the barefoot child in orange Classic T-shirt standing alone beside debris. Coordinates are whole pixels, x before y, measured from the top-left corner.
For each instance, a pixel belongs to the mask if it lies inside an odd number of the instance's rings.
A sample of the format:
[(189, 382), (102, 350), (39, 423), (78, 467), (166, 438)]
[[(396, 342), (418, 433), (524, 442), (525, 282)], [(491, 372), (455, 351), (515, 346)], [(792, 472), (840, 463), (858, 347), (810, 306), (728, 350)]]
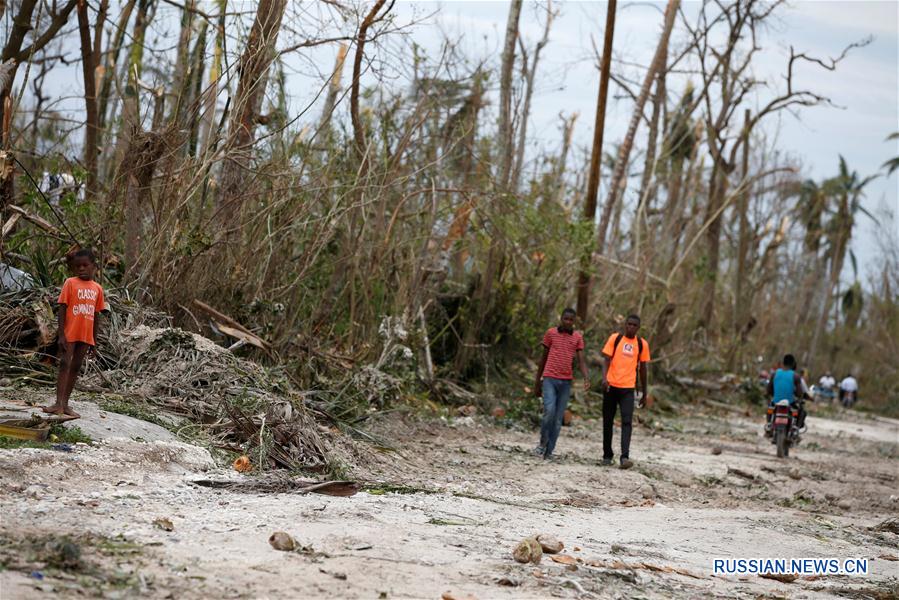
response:
[(42, 410), (54, 415), (81, 415), (69, 407), (69, 396), (86, 355), (95, 354), (100, 331), (100, 312), (106, 310), (103, 288), (94, 281), (97, 261), (90, 250), (82, 249), (69, 258), (75, 277), (66, 279), (59, 294), (59, 375), (56, 404)]

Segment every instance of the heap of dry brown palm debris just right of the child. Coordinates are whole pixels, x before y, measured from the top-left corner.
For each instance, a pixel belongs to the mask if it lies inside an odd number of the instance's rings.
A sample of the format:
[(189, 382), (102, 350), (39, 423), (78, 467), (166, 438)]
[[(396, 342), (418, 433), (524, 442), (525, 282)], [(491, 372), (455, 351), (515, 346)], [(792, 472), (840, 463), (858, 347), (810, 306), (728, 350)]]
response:
[(181, 329), (139, 325), (115, 340), (117, 368), (85, 382), (186, 417), (263, 467), (321, 470), (328, 451), (303, 396), (276, 371)]

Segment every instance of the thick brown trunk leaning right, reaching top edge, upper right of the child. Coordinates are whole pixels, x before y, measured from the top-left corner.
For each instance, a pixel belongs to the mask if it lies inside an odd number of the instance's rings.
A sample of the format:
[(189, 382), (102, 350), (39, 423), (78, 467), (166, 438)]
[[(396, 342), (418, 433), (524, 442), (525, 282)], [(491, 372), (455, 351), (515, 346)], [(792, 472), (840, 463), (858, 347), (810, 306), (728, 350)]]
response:
[(268, 69), (275, 59), (275, 44), (286, 4), (287, 0), (259, 2), (246, 48), (240, 57), (240, 82), (231, 114), (228, 160), (222, 172), (218, 202), (220, 222), (229, 235), (238, 230), (256, 120), (265, 97)]

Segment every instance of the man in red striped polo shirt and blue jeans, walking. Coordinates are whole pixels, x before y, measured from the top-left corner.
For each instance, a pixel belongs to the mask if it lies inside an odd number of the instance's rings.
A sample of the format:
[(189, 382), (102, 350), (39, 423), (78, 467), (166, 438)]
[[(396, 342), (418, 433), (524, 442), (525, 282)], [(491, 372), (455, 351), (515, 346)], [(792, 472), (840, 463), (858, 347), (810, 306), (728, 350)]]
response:
[(566, 308), (557, 327), (543, 336), (543, 358), (537, 369), (534, 393), (543, 396), (543, 420), (540, 424), (540, 445), (534, 451), (549, 459), (556, 449), (562, 429), (562, 418), (571, 396), (572, 363), (577, 354), (584, 391), (590, 389), (587, 364), (584, 362), (584, 336), (574, 330), (574, 309)]

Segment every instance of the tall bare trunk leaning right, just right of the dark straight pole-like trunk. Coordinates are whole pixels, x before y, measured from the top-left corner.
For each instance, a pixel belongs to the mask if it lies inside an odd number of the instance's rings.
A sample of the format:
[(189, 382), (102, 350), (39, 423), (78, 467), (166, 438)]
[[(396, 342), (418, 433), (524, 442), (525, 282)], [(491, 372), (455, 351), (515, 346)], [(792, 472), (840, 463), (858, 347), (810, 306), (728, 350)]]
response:
[(627, 165), (631, 154), (631, 148), (634, 146), (634, 138), (637, 135), (637, 127), (643, 118), (643, 107), (649, 98), (652, 89), (652, 82), (656, 78), (656, 74), (663, 67), (665, 57), (668, 54), (668, 40), (671, 38), (671, 30), (674, 29), (674, 21), (677, 17), (677, 8), (680, 0), (668, 0), (668, 7), (665, 9), (665, 25), (662, 29), (662, 37), (659, 39), (659, 45), (656, 46), (656, 52), (653, 56), (646, 77), (643, 79), (643, 87), (640, 88), (640, 95), (637, 96), (637, 102), (634, 106), (634, 112), (631, 115), (631, 121), (624, 136), (624, 141), (618, 147), (618, 157), (615, 160), (615, 171), (612, 173), (612, 181), (609, 183), (609, 197), (603, 206), (602, 217), (599, 220), (599, 231), (596, 235), (596, 252), (602, 255), (605, 252), (606, 231), (609, 227), (609, 219), (612, 216), (612, 209), (620, 200), (624, 186), (627, 182)]

